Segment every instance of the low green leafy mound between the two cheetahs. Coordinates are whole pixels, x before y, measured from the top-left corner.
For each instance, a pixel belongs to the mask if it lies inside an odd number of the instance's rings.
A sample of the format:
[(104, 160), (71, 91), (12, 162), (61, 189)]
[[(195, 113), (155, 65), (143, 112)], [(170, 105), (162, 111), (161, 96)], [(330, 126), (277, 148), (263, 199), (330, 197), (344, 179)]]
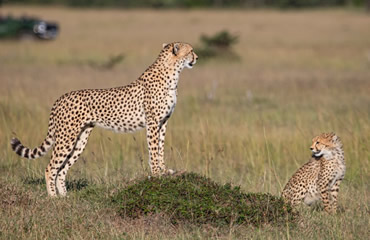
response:
[(166, 215), (171, 223), (216, 227), (283, 224), (297, 216), (290, 205), (267, 193), (243, 193), (196, 173), (139, 181), (112, 196), (120, 216)]

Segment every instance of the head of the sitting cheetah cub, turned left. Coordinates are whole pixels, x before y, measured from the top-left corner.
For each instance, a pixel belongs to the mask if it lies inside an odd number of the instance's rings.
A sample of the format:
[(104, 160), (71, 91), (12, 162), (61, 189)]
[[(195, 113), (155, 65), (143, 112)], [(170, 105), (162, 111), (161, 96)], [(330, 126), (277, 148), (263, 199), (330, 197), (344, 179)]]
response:
[(329, 157), (332, 155), (332, 151), (337, 148), (341, 148), (342, 143), (340, 138), (335, 133), (322, 133), (312, 139), (311, 151), (312, 156)]

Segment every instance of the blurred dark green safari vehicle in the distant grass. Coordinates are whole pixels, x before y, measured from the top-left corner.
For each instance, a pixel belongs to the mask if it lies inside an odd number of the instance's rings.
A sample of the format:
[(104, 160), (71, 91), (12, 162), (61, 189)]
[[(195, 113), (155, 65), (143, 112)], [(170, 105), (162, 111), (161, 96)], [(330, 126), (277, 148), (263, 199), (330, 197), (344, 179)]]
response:
[(59, 26), (54, 22), (46, 22), (32, 17), (0, 16), (0, 39), (36, 38), (52, 40), (58, 36), (58, 33)]

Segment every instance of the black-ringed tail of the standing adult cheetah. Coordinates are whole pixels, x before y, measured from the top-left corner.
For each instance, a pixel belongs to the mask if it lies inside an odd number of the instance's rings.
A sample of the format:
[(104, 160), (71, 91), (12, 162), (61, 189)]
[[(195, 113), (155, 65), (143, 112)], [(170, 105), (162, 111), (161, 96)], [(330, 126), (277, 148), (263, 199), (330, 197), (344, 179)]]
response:
[(17, 139), (13, 138), (10, 142), (12, 149), (16, 152), (19, 156), (28, 158), (28, 159), (35, 159), (41, 156), (44, 156), (47, 151), (53, 146), (53, 138), (48, 136), (46, 139), (41, 143), (39, 147), (34, 149), (27, 148), (22, 145), (22, 143)]

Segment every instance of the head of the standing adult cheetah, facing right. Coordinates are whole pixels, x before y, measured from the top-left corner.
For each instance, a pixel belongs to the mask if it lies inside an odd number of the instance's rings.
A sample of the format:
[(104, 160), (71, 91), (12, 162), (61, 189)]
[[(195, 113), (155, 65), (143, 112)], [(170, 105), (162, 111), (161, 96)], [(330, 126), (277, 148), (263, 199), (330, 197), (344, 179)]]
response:
[(165, 57), (168, 64), (180, 68), (192, 68), (198, 59), (193, 47), (181, 42), (164, 43), (161, 55)]

